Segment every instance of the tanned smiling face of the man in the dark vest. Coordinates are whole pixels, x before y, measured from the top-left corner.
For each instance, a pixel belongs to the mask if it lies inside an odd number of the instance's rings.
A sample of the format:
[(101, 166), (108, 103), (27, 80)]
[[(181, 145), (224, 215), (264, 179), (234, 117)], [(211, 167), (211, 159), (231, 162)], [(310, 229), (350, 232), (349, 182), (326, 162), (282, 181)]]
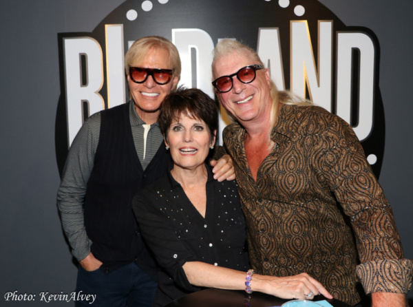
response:
[[(146, 56), (132, 64), (131, 66), (142, 68), (173, 69), (169, 64), (169, 52), (160, 48), (151, 48)], [(158, 119), (160, 104), (165, 96), (176, 87), (178, 76), (172, 76), (171, 82), (165, 85), (157, 84), (152, 76), (148, 76), (144, 83), (135, 83), (128, 74), (127, 81), (138, 116), (145, 123), (153, 124)]]

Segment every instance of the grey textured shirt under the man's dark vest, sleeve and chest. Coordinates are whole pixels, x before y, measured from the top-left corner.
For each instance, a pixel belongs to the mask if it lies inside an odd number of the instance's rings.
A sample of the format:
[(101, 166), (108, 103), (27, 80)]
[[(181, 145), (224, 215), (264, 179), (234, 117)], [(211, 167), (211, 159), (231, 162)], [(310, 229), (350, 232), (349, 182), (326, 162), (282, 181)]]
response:
[[(133, 101), (129, 101), (129, 119), (136, 153), (145, 169), (156, 154), (163, 136), (158, 123), (146, 125), (136, 113)], [(70, 147), (61, 184), (57, 193), (57, 205), (61, 213), (63, 230), (72, 247), (72, 254), (78, 261), (90, 253), (89, 240), (83, 221), (83, 200), (87, 181), (94, 167), (94, 156), (100, 134), (100, 112), (90, 116)]]

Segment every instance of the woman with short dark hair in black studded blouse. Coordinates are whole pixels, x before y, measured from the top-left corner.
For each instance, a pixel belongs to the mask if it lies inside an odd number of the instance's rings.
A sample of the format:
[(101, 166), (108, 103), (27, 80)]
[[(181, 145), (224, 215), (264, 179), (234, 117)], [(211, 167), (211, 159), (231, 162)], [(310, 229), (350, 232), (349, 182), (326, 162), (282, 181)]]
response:
[[(326, 293), (315, 279), (278, 282), (248, 270), (246, 226), (234, 181), (213, 180), (205, 160), (215, 143), (218, 107), (199, 89), (178, 89), (160, 109), (158, 123), (173, 165), (141, 190), (133, 209), (158, 262), (155, 305), (202, 287), (252, 290), (290, 299), (302, 287)], [(248, 270), (248, 272), (246, 272)]]

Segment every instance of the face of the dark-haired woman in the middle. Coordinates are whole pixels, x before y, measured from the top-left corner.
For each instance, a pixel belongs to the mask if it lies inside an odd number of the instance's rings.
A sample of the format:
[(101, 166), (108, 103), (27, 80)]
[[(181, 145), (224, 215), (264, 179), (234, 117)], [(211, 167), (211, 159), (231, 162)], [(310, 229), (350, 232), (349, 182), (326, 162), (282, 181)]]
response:
[(215, 133), (209, 131), (204, 120), (181, 114), (171, 123), (165, 136), (170, 147), (174, 169), (195, 170), (203, 167), (209, 154), (209, 147), (215, 143)]

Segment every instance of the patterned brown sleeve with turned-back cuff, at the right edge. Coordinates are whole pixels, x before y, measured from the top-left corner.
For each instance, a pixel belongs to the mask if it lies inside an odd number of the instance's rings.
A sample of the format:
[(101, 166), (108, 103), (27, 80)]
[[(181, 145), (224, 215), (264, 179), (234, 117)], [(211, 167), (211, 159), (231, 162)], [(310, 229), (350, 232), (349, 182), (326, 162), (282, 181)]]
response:
[(334, 117), (323, 136), (322, 171), (344, 213), (350, 217), (361, 264), (357, 275), (366, 293), (407, 293), (413, 262), (403, 248), (392, 208), (352, 128)]

